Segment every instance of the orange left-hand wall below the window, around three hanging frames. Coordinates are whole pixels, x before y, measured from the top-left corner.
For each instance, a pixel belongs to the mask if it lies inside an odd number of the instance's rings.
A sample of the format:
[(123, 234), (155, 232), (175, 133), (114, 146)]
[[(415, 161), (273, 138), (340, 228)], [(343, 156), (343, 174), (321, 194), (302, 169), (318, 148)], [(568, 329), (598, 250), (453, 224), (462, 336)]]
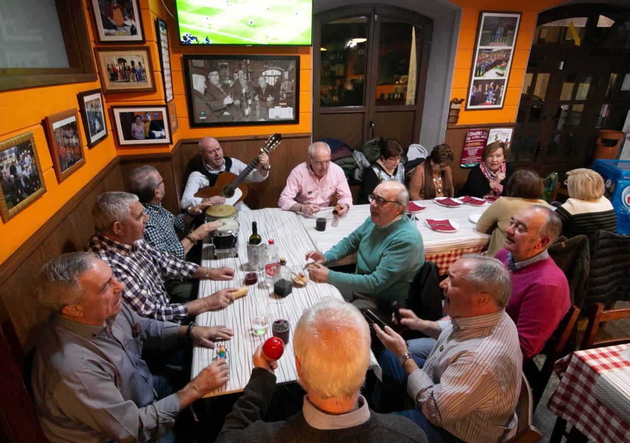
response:
[[(85, 14), (89, 12), (86, 1), (83, 0)], [(94, 45), (94, 34), (91, 24), (88, 24), (89, 39)], [(14, 91), (0, 92), (0, 140), (33, 132), (35, 147), (43, 170), (43, 179), (47, 191), (33, 204), (11, 220), (0, 224), (0, 263), (13, 254), (21, 244), (37, 231), (54, 213), (72, 198), (74, 194), (83, 188), (105, 165), (116, 157), (116, 149), (112, 135), (112, 124), (107, 118), (107, 127), (110, 131), (108, 137), (88, 149), (85, 144), (83, 123), (81, 137), (84, 143), (86, 163), (70, 177), (57, 183), (57, 177), (52, 167), (52, 157), (45, 135), (42, 121), (47, 115), (51, 115), (66, 109), (79, 109), (77, 93), (100, 88), (98, 81), (88, 83), (64, 84), (59, 86), (35, 87), (31, 89), (17, 89)], [(105, 97), (105, 100), (107, 98)], [(79, 117), (80, 119), (81, 117)]]

